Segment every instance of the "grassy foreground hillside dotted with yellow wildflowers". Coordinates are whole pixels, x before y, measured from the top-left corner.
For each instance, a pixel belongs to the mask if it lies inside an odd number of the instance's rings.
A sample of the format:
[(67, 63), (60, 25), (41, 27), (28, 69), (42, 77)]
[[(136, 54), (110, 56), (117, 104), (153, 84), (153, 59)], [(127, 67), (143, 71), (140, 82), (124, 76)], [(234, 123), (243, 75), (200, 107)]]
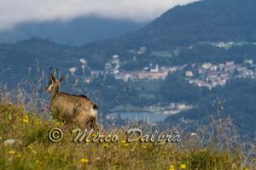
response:
[[(149, 126), (130, 124), (108, 127), (102, 133), (117, 134), (116, 143), (74, 143), (71, 129), (61, 122), (43, 119), (44, 113), (26, 112), (25, 105), (0, 104), (0, 169), (255, 169), (253, 157), (242, 152), (241, 145), (231, 144), (224, 137), (225, 123), (218, 124), (219, 136), (202, 141), (198, 135), (183, 135), (177, 144), (127, 143), (129, 127)], [(59, 143), (48, 139), (49, 130), (60, 127), (64, 137)], [(209, 133), (205, 127), (201, 132)], [(166, 130), (167, 131), (167, 130)], [(11, 144), (9, 139), (15, 139)], [(8, 142), (9, 140), (9, 142)], [(230, 141), (230, 142), (229, 142)], [(233, 147), (234, 146), (234, 147)], [(247, 151), (251, 153), (253, 150)], [(254, 162), (255, 163), (255, 162)]]

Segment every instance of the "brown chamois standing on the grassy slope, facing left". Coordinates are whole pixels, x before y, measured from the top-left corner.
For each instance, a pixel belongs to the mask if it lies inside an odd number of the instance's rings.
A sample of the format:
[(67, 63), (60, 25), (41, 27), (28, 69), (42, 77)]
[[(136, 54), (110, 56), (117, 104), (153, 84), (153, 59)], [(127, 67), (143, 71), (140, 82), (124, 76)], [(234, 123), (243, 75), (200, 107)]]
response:
[(73, 122), (79, 127), (90, 127), (99, 130), (97, 123), (97, 105), (84, 95), (71, 95), (61, 93), (61, 82), (53, 74), (45, 90), (51, 94), (49, 105), (54, 118), (61, 118), (67, 122)]

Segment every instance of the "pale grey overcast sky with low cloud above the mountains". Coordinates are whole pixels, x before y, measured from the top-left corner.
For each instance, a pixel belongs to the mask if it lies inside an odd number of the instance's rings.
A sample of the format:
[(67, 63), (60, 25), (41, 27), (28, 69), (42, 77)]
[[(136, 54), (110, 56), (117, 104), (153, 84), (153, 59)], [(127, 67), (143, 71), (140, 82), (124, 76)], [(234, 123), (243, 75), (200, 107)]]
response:
[(0, 29), (26, 21), (72, 20), (95, 14), (113, 19), (153, 20), (168, 8), (196, 0), (0, 0)]

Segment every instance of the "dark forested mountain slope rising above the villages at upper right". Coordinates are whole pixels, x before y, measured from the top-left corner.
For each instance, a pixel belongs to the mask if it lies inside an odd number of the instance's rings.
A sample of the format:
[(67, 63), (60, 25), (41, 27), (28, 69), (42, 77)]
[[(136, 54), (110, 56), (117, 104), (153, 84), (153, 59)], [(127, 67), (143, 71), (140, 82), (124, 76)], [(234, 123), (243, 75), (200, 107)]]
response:
[[(169, 48), (195, 42), (256, 42), (256, 1), (204, 0), (177, 6), (139, 31), (119, 38), (127, 48)], [(131, 43), (132, 42), (132, 43)]]

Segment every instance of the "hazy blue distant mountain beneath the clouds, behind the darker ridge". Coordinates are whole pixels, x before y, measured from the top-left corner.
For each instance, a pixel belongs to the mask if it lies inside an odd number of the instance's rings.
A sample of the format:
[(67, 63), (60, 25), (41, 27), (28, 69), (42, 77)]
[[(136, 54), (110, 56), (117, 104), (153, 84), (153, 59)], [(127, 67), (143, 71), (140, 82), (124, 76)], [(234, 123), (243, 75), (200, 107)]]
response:
[(27, 22), (11, 30), (0, 31), (0, 42), (17, 42), (38, 37), (62, 44), (82, 45), (118, 37), (136, 31), (146, 24), (146, 22), (103, 19), (96, 16), (84, 16), (67, 21)]

